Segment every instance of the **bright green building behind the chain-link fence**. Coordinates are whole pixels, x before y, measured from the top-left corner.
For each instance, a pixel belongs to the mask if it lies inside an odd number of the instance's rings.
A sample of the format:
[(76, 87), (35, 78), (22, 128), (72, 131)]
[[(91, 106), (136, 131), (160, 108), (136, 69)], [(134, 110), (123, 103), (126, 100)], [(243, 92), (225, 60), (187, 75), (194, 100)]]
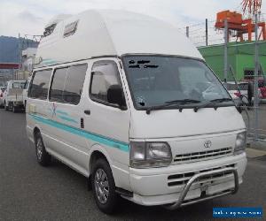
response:
[[(266, 42), (259, 42), (259, 62), (266, 74)], [(218, 77), (223, 80), (224, 45), (200, 47), (200, 53)], [(228, 46), (228, 65), (232, 67), (237, 80), (250, 80), (254, 76), (254, 42), (231, 42)], [(261, 72), (260, 72), (261, 73)], [(228, 72), (228, 80), (232, 80)]]

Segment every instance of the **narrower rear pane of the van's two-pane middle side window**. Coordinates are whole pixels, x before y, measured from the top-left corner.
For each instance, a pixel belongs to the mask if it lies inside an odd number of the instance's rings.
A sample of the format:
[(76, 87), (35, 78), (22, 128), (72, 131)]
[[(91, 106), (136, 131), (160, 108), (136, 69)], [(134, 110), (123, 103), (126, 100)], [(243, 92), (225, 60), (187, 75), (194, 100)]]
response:
[(63, 102), (63, 91), (67, 68), (56, 69), (51, 82), (50, 101)]

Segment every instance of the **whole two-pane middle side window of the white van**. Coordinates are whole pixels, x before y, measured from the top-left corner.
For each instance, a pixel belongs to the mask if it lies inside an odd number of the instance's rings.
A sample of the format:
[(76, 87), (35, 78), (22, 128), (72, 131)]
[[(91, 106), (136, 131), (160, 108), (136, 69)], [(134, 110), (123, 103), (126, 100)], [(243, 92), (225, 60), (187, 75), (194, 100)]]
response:
[(51, 83), (50, 101), (80, 103), (86, 70), (87, 64), (57, 69)]

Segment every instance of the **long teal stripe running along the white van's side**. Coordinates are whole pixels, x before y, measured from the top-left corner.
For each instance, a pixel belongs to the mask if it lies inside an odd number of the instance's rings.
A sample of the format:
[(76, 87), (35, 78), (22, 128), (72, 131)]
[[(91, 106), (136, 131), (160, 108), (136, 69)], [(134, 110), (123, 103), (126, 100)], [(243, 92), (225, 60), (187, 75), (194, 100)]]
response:
[(111, 138), (107, 138), (98, 134), (89, 133), (87, 131), (83, 131), (82, 129), (75, 128), (74, 126), (66, 126), (64, 124), (61, 124), (57, 121), (43, 118), (34, 114), (29, 114), (32, 118), (34, 118), (36, 121), (43, 123), (48, 126), (52, 126), (55, 128), (58, 128), (60, 130), (66, 131), (68, 133), (73, 133), (75, 135), (79, 135), (81, 137), (84, 137), (86, 139), (96, 141), (98, 143), (104, 144), (108, 147), (121, 149), (122, 151), (129, 152), (129, 144), (121, 141), (115, 141)]

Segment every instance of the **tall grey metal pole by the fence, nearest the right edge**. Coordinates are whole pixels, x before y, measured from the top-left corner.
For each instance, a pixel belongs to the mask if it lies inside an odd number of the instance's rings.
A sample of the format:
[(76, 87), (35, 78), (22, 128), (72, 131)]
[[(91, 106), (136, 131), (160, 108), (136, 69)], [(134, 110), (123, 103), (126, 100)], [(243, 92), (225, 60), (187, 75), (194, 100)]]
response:
[(255, 19), (255, 45), (254, 45), (254, 141), (258, 141), (259, 125), (259, 49), (258, 49), (258, 13), (254, 14)]

